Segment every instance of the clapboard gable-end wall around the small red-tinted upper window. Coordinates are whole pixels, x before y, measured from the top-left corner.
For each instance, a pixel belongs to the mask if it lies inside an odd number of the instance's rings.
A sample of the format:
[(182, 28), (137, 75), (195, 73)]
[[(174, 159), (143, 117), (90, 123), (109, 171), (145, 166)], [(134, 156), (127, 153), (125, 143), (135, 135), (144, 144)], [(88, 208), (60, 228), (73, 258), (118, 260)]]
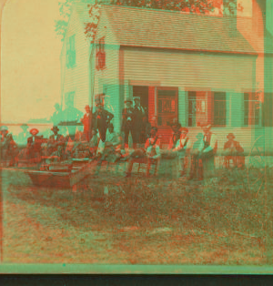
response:
[(120, 129), (120, 87), (119, 83), (119, 45), (117, 45), (116, 37), (112, 31), (108, 19), (102, 11), (100, 22), (96, 32), (96, 41), (105, 36), (105, 51), (106, 51), (106, 67), (103, 70), (96, 69), (96, 45), (93, 46), (91, 59), (91, 82), (93, 101), (95, 95), (105, 93), (105, 108), (114, 114), (112, 123), (117, 132)]

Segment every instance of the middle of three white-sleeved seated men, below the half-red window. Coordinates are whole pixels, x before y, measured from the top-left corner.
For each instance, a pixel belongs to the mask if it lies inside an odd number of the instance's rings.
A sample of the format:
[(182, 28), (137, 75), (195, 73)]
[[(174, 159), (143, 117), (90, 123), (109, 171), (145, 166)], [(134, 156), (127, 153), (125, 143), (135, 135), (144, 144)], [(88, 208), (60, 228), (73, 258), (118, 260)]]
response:
[(178, 157), (180, 159), (181, 164), (181, 176), (184, 176), (186, 174), (187, 169), (187, 161), (186, 156), (190, 149), (190, 139), (187, 137), (188, 129), (187, 128), (181, 128), (181, 136), (177, 140), (177, 146), (173, 149), (173, 151), (177, 152)]

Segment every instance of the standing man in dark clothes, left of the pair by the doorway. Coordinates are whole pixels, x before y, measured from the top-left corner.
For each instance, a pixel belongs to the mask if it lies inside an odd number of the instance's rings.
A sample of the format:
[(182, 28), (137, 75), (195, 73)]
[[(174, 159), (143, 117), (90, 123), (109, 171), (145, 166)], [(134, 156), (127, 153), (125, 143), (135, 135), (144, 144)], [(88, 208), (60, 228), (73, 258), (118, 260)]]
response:
[(133, 101), (127, 99), (125, 101), (126, 108), (122, 110), (122, 123), (121, 123), (121, 133), (123, 138), (122, 148), (128, 147), (128, 138), (131, 132), (132, 134), (132, 118), (133, 118)]

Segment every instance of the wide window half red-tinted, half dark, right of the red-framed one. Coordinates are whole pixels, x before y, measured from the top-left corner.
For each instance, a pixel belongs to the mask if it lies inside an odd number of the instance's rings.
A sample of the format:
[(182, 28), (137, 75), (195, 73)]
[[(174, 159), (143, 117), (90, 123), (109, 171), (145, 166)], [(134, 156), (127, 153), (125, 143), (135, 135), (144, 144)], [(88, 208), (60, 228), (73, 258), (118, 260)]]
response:
[(189, 91), (188, 92), (188, 126), (197, 127), (199, 122), (226, 126), (226, 93)]

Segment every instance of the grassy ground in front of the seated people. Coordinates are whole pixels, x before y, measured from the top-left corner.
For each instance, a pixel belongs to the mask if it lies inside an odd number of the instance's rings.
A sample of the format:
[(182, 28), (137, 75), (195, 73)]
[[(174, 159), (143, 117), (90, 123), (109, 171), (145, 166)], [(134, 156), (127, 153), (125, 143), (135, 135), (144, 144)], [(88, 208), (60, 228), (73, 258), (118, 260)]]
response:
[(272, 189), (260, 169), (215, 179), (116, 178), (35, 188), (3, 171), (4, 262), (272, 264)]

